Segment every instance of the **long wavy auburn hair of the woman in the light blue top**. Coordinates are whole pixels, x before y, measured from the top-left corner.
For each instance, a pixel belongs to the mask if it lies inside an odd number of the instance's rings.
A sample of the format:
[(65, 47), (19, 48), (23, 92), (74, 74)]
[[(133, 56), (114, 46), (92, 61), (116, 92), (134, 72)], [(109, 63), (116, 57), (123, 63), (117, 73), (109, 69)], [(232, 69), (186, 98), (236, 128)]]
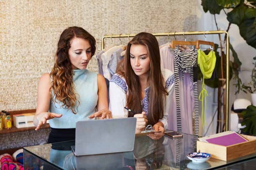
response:
[[(96, 50), (96, 41), (94, 37), (81, 27), (69, 27), (60, 35), (54, 66), (50, 73), (50, 77), (52, 78), (50, 93), (52, 92), (53, 96), (55, 97), (52, 97), (52, 101), (59, 104), (62, 103), (61, 107), (70, 109), (74, 114), (76, 114), (78, 111), (77, 109), (80, 102), (77, 100), (76, 90), (72, 80), (74, 71), (71, 68), (68, 50), (71, 47), (71, 40), (75, 37), (89, 41), (92, 48), (91, 56), (94, 55)], [(77, 106), (76, 101), (78, 101)]]

